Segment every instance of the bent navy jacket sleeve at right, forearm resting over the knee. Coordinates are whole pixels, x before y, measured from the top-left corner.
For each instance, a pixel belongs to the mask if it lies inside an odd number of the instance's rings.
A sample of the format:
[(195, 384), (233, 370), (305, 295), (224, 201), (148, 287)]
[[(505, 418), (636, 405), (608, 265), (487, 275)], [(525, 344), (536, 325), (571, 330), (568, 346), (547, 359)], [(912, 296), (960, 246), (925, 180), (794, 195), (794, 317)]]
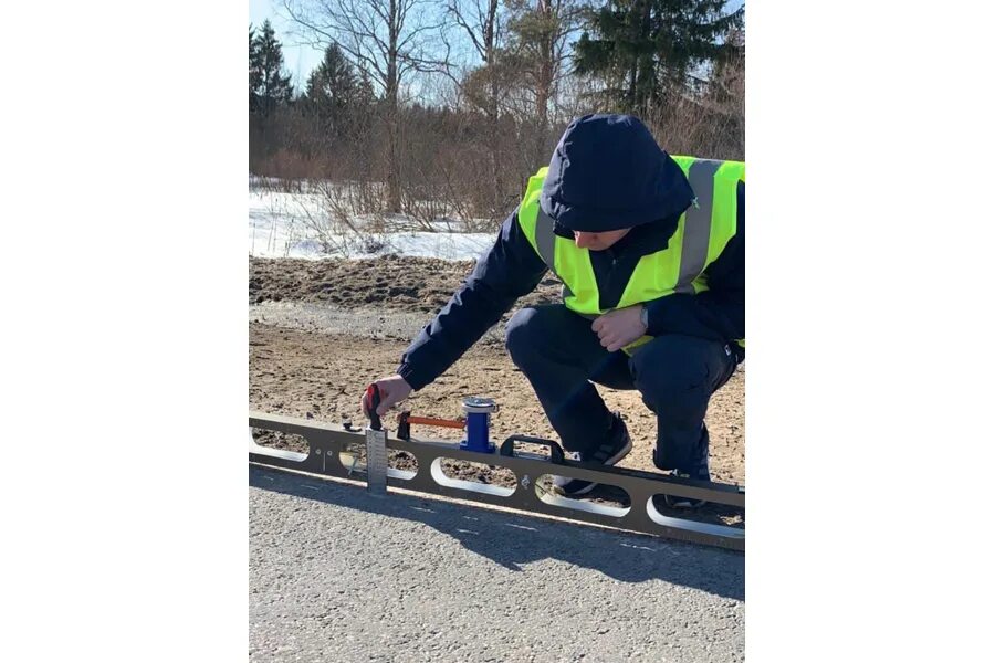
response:
[(746, 187), (736, 191), (736, 234), (705, 269), (709, 290), (677, 294), (647, 304), (650, 336), (681, 334), (712, 340), (746, 337)]

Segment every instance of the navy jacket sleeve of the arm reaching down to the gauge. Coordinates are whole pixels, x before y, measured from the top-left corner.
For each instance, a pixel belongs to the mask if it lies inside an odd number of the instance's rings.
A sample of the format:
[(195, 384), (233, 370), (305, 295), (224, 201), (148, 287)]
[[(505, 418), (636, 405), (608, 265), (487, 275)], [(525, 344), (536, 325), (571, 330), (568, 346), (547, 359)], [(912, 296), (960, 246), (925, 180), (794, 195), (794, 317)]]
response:
[(545, 273), (546, 264), (519, 227), (517, 211), (513, 212), (460, 290), (405, 350), (398, 375), (416, 390), (430, 383), (519, 297), (535, 290)]

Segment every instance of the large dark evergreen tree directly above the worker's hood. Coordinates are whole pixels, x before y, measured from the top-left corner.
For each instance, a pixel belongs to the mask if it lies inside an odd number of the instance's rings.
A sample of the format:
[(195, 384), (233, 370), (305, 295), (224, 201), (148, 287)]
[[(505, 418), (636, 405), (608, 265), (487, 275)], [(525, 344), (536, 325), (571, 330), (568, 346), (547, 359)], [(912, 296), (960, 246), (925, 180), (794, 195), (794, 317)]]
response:
[(609, 0), (589, 14), (577, 42), (577, 73), (607, 83), (609, 101), (630, 112), (687, 90), (696, 67), (723, 54), (720, 38), (742, 24), (725, 0)]

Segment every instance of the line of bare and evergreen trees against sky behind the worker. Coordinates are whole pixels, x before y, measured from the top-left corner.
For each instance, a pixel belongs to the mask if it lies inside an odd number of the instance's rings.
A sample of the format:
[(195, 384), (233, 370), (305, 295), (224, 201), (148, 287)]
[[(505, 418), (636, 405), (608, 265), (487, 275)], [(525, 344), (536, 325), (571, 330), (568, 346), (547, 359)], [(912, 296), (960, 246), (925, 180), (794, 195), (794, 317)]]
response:
[[(302, 90), (249, 27), (250, 170), (363, 185), (363, 211), (500, 220), (566, 123), (639, 115), (743, 158), (744, 7), (725, 0), (283, 0)], [(430, 209), (426, 210), (426, 206)]]

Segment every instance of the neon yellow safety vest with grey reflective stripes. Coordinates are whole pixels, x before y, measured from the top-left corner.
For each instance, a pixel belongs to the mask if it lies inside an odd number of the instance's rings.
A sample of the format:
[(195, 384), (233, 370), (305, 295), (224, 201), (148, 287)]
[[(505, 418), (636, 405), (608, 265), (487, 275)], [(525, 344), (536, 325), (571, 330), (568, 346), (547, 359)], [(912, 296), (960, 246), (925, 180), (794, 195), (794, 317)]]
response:
[[(736, 186), (746, 180), (741, 161), (716, 161), (672, 157), (681, 167), (695, 194), (695, 202), (678, 220), (667, 249), (645, 255), (632, 271), (616, 308), (659, 299), (674, 293), (696, 294), (708, 290), (702, 273), (722, 253), (736, 233)], [(599, 293), (587, 249), (554, 233), (554, 221), (538, 203), (548, 168), (528, 179), (519, 207), (519, 224), (543, 262), (564, 284), (564, 304), (587, 318), (609, 309), (599, 306)], [(643, 336), (627, 351), (651, 339)], [(745, 343), (740, 341), (741, 346)]]

